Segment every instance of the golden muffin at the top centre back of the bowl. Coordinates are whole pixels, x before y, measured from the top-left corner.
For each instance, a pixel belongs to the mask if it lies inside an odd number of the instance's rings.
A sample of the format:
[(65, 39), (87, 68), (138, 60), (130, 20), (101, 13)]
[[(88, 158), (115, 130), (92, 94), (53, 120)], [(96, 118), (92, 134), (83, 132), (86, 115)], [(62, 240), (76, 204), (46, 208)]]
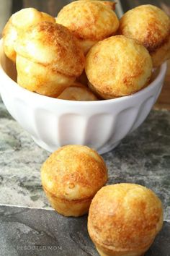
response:
[(84, 54), (99, 40), (114, 35), (119, 27), (115, 12), (107, 5), (101, 1), (73, 1), (55, 19), (76, 35)]

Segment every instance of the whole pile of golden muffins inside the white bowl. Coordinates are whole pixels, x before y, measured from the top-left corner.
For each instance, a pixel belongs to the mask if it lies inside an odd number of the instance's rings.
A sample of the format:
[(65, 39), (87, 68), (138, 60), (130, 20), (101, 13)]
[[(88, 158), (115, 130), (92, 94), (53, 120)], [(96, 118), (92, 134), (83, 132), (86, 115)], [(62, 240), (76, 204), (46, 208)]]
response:
[(23, 88), (53, 98), (97, 101), (141, 90), (170, 58), (170, 19), (143, 5), (120, 20), (112, 1), (73, 1), (56, 18), (28, 8), (3, 32)]

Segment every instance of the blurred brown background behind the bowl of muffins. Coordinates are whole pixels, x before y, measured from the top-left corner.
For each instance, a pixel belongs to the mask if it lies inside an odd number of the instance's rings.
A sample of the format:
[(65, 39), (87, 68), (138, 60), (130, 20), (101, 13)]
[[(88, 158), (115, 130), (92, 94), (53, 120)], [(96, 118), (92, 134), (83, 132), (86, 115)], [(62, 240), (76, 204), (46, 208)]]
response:
[[(61, 8), (69, 4), (69, 0), (0, 0), (0, 38), (1, 33), (9, 17), (22, 8), (35, 7), (41, 12), (47, 12), (56, 17)], [(153, 4), (166, 12), (170, 16), (170, 0), (115, 0), (116, 12), (118, 17), (122, 17), (124, 12), (141, 4)], [(164, 88), (161, 96), (158, 98), (156, 108), (170, 109), (170, 61), (168, 61), (168, 70)]]

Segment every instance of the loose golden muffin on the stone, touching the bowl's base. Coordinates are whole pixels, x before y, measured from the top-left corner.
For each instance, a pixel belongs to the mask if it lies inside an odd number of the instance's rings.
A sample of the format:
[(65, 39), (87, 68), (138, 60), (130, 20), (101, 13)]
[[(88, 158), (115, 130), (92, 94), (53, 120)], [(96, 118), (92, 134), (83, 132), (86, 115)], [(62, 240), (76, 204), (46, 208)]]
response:
[(91, 148), (67, 145), (56, 150), (41, 168), (42, 187), (52, 207), (64, 216), (82, 216), (107, 182), (107, 167)]

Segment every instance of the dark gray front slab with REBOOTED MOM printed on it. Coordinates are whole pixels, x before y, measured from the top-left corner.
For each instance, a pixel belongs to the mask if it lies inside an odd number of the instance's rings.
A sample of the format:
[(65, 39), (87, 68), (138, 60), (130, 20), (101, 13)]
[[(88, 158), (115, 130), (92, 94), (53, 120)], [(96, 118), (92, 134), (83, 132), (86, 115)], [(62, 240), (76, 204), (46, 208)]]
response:
[[(0, 206), (0, 255), (97, 256), (86, 229), (86, 216), (66, 218), (53, 210)], [(145, 256), (170, 255), (170, 223)]]

